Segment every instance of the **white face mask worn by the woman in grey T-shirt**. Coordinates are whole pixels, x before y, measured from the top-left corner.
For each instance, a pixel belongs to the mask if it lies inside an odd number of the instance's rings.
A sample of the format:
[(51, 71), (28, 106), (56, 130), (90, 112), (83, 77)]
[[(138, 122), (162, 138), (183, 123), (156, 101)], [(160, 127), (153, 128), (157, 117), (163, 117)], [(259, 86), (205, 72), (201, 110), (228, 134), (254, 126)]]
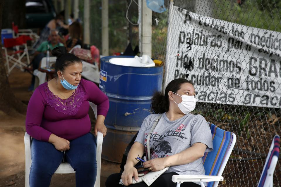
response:
[[(174, 94), (177, 94), (177, 93), (174, 93)], [(177, 94), (177, 95), (180, 96), (179, 94)], [(188, 114), (189, 112), (191, 112), (192, 110), (195, 109), (196, 99), (194, 96), (182, 95), (181, 97), (182, 97), (181, 103), (178, 104), (175, 101), (174, 102), (178, 105), (178, 107), (182, 113)]]

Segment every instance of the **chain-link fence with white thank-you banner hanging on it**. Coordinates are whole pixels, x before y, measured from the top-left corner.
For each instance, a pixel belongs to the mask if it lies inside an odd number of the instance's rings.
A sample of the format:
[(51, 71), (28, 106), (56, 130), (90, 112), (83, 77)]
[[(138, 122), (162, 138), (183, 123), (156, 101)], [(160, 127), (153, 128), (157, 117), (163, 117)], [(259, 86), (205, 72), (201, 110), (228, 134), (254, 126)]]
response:
[[(281, 134), (281, 1), (174, 0), (153, 13), (152, 58), (165, 62), (163, 88), (193, 81), (194, 114), (237, 142), (220, 186), (257, 186)], [(157, 19), (157, 23), (155, 21)], [(281, 160), (273, 176), (281, 186)]]

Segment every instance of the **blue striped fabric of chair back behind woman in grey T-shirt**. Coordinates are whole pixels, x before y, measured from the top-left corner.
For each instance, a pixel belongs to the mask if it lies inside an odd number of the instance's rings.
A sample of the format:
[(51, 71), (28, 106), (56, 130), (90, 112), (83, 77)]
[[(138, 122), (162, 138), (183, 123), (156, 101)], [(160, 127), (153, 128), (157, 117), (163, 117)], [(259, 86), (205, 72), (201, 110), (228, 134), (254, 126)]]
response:
[[(233, 141), (233, 133), (222, 130), (209, 123), (212, 137), (213, 137), (213, 151), (205, 152), (203, 157), (203, 164), (205, 168), (205, 175), (218, 175), (222, 168), (222, 163), (226, 158), (226, 154), (229, 150), (230, 145)], [(209, 182), (208, 187), (213, 187), (215, 182)]]

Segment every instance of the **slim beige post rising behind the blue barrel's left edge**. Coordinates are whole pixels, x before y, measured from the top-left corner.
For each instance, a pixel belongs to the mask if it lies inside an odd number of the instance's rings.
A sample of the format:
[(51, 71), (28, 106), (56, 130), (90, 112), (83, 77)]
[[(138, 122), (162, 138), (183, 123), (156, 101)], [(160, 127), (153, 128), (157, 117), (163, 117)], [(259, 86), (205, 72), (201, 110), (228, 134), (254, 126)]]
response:
[(108, 0), (102, 0), (102, 55), (109, 56)]

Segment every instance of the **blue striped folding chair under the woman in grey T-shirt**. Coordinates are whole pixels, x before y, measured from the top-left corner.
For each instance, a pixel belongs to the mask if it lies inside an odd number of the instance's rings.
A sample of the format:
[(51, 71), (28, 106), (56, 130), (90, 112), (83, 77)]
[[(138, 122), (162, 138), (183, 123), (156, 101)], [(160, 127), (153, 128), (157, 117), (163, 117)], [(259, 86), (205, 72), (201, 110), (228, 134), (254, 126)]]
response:
[(219, 181), (223, 181), (222, 172), (233, 150), (236, 142), (236, 135), (232, 132), (222, 130), (212, 123), (209, 123), (213, 137), (213, 151), (205, 152), (203, 164), (205, 175), (173, 175), (172, 181), (180, 187), (183, 182), (208, 182), (208, 187), (217, 187)]

